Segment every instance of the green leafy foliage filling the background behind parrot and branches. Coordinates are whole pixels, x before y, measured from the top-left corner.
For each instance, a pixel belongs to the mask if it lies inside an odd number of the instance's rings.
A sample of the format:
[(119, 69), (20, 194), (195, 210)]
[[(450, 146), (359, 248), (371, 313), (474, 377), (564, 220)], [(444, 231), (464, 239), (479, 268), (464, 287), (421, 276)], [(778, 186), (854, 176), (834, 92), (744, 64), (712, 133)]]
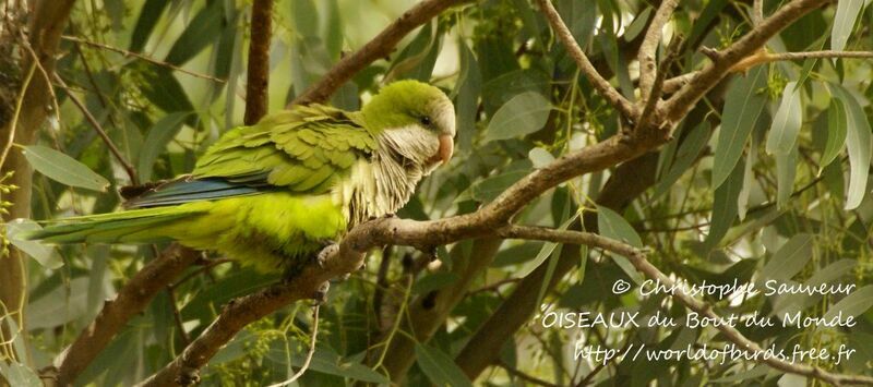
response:
[[(268, 110), (282, 109), (345, 52), (369, 41), (411, 4), (400, 0), (276, 1)], [(766, 1), (765, 13), (779, 5), (779, 1)], [(57, 64), (69, 88), (55, 83), (58, 109), (39, 132), (38, 144), (74, 158), (109, 186), (99, 192), (50, 179), (67, 174), (91, 179), (96, 185), (92, 188), (103, 183), (86, 172), (71, 171), (56, 153), (34, 148), (32, 154), (61, 166), (40, 168), (38, 161), (32, 162), (43, 172), (34, 178), (33, 219), (112, 210), (119, 205), (117, 189), (132, 183), (71, 96), (82, 100), (140, 181), (190, 171), (208, 144), (227, 128), (240, 124), (251, 7), (240, 0), (76, 2)], [(559, 0), (557, 8), (596, 68), (633, 98), (638, 72), (635, 49), (653, 5), (635, 0)], [(848, 28), (845, 49), (870, 50), (873, 10), (859, 7), (854, 23), (837, 20), (836, 12), (837, 5), (813, 11), (770, 40), (768, 48), (776, 52), (839, 50), (832, 34)], [(683, 36), (685, 43), (670, 74), (698, 69), (707, 60), (699, 48), (727, 46), (750, 29), (750, 14), (749, 2), (682, 1), (667, 26), (668, 36)], [(160, 63), (100, 45), (140, 52)], [(175, 71), (171, 65), (204, 76)], [(753, 68), (711, 92), (658, 152), (631, 161), (629, 168), (563, 184), (531, 203), (516, 222), (559, 228), (585, 218), (588, 229), (599, 226), (607, 237), (650, 247), (649, 259), (656, 266), (692, 282), (773, 278), (857, 283), (862, 293), (856, 297), (861, 304), (851, 310), (859, 315), (856, 327), (740, 330), (758, 342), (787, 348), (848, 343), (859, 350), (849, 362), (817, 365), (873, 375), (873, 311), (869, 310), (873, 302), (873, 185), (866, 184), (866, 172), (851, 178), (859, 167), (849, 160), (864, 148), (870, 153), (871, 70), (869, 60), (854, 59), (777, 61)], [(531, 169), (607, 138), (622, 124), (554, 43), (548, 23), (527, 0), (481, 1), (451, 9), (405, 38), (390, 58), (357, 74), (332, 104), (355, 110), (381, 84), (405, 77), (431, 82), (450, 94), (458, 113), (458, 138), (454, 160), (421, 184), (402, 217), (434, 219), (473, 211)], [(794, 85), (789, 82), (801, 84), (794, 99), (792, 88), (786, 87)], [(737, 101), (745, 104), (738, 107)], [(786, 123), (780, 123), (780, 109), (789, 108), (794, 110), (786, 110)], [(790, 131), (792, 125), (800, 128), (797, 142), (788, 145), (788, 152), (768, 153), (770, 133)], [(866, 144), (853, 142), (862, 131), (868, 133)], [(726, 134), (743, 132), (744, 136)], [(866, 184), (860, 193), (859, 179)], [(723, 183), (714, 184), (714, 180)], [(79, 185), (88, 183), (79, 181)], [(851, 192), (860, 198), (847, 210)], [(38, 370), (93, 321), (103, 300), (111, 298), (155, 250), (28, 245), (14, 239), (16, 230), (27, 227), (34, 226), (8, 225), (12, 242), (36, 258), (28, 261), (26, 332), (15, 340), (22, 346), (27, 341), (27, 367)], [(552, 280), (559, 257), (569, 254), (575, 254), (575, 267)], [(482, 385), (804, 383), (755, 362), (617, 361), (598, 366), (574, 360), (573, 342), (579, 337), (610, 348), (631, 343), (683, 348), (725, 341), (713, 329), (543, 328), (537, 313), (547, 310), (641, 311), (643, 315), (660, 311), (677, 317), (686, 313), (663, 295), (612, 295), (615, 280), (634, 278), (598, 251), (477, 240), (440, 247), (438, 255), (438, 261), (430, 262), (414, 249), (388, 246), (371, 254), (364, 269), (334, 283), (321, 307), (314, 361), (299, 383), (388, 383), (397, 375), (385, 365), (411, 356), (417, 362), (406, 375), (409, 385), (469, 384), (470, 376)], [(170, 362), (223, 304), (276, 280), (234, 263), (211, 262), (191, 267), (160, 292), (76, 383), (110, 386), (142, 380)], [(487, 268), (477, 269), (470, 262), (485, 263)], [(528, 276), (531, 273), (536, 275)], [(525, 288), (519, 285), (525, 278), (538, 282)], [(524, 306), (517, 301), (524, 294), (516, 289), (539, 290), (537, 300), (548, 309)], [(427, 310), (434, 292), (449, 290), (463, 297), (444, 321), (436, 322), (432, 338), (417, 342), (412, 353), (394, 351), (390, 342), (414, 337), (415, 313)], [(741, 303), (707, 301), (722, 314), (800, 307), (804, 314), (823, 315), (834, 311), (840, 299), (789, 300), (794, 306), (763, 295)], [(531, 324), (510, 328), (505, 335), (480, 330), (499, 307)], [(294, 373), (289, 364), (295, 368), (302, 364), (311, 323), (307, 304), (297, 303), (248, 326), (210, 361), (201, 374), (204, 383), (263, 385), (286, 379)], [(505, 343), (495, 355), (468, 344), (477, 340)], [(489, 366), (470, 370), (468, 363), (455, 364), (455, 356), (486, 359)], [(9, 370), (4, 370), (8, 378)], [(20, 372), (24, 378), (33, 376), (27, 368)]]

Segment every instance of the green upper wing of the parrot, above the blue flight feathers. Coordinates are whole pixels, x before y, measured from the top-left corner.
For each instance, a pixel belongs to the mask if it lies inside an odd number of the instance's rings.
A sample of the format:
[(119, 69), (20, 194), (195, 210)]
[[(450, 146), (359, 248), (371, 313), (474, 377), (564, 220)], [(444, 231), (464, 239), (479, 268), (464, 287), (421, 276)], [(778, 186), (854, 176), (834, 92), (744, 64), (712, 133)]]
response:
[(225, 134), (200, 158), (192, 177), (324, 193), (375, 149), (373, 136), (356, 121), (321, 105), (272, 114)]

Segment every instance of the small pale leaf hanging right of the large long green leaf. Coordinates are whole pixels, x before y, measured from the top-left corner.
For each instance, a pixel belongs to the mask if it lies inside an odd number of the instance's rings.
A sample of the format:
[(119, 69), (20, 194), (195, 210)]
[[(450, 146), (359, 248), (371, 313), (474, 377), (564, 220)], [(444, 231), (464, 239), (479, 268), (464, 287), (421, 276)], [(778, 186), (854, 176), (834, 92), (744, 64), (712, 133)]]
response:
[(801, 90), (794, 87), (797, 82), (789, 82), (782, 90), (782, 101), (773, 117), (773, 125), (767, 135), (767, 153), (787, 155), (794, 148), (803, 123), (803, 104)]

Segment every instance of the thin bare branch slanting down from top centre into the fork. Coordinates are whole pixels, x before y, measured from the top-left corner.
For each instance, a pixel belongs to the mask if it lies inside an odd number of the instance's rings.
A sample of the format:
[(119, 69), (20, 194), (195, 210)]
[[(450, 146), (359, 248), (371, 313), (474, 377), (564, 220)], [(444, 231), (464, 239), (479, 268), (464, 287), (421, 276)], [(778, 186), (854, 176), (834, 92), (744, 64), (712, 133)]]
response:
[(609, 84), (609, 81), (605, 80), (600, 73), (597, 72), (597, 69), (594, 68), (591, 61), (588, 60), (588, 57), (585, 56), (585, 52), (582, 51), (582, 48), (573, 38), (573, 34), (570, 32), (570, 28), (566, 27), (566, 24), (561, 20), (561, 15), (552, 5), (551, 1), (549, 0), (537, 0), (539, 3), (539, 8), (542, 10), (542, 13), (546, 15), (546, 19), (549, 20), (549, 24), (554, 29), (555, 35), (561, 40), (561, 43), (566, 48), (566, 51), (573, 57), (573, 60), (576, 61), (576, 64), (582, 70), (582, 73), (585, 74), (585, 77), (588, 78), (588, 82), (600, 93), (600, 95), (606, 98), (610, 104), (612, 104), (615, 109), (618, 109), (622, 116), (635, 119), (637, 112), (633, 105), (625, 99), (618, 90), (615, 90), (612, 85)]

